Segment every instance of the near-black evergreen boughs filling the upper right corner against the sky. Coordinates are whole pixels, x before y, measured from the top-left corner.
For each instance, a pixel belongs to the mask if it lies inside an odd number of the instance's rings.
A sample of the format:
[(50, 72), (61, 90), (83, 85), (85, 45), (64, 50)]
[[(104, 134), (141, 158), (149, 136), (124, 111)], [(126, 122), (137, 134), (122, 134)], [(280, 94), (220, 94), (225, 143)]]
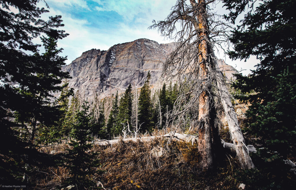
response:
[[(250, 76), (236, 75), (237, 82), (233, 86), (242, 90), (242, 95), (237, 98), (267, 103), (272, 99), (268, 92), (276, 86), (270, 82), (270, 77), (276, 77), (287, 66), (292, 68), (296, 62), (296, 18), (292, 16), (296, 11), (296, 2), (269, 0), (258, 7), (254, 7), (255, 0), (223, 2), (230, 11), (224, 17), (233, 23), (239, 14), (245, 14), (230, 38), (234, 51), (229, 51), (229, 56), (232, 59), (248, 59), (254, 55), (260, 60)], [(256, 93), (246, 96), (245, 93), (251, 90)]]

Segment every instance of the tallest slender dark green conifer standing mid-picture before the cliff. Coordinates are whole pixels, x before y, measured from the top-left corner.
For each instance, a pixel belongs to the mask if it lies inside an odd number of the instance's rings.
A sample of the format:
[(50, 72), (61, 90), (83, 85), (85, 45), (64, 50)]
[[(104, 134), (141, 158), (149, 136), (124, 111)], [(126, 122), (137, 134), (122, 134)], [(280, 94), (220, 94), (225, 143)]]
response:
[(151, 79), (150, 71), (147, 74), (147, 79), (141, 88), (139, 96), (139, 124), (141, 124), (141, 131), (152, 130), (152, 105), (151, 105), (151, 90), (149, 81)]

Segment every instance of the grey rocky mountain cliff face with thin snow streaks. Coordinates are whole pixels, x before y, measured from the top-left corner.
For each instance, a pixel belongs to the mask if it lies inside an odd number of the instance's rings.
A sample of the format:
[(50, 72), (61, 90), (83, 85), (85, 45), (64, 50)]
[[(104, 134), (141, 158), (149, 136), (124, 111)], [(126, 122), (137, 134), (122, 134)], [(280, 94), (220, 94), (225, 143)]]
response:
[[(114, 45), (107, 51), (91, 49), (83, 52), (62, 70), (73, 77), (69, 81), (69, 87), (79, 90), (89, 98), (94, 93), (100, 98), (115, 94), (117, 90), (121, 93), (129, 84), (140, 87), (144, 84), (148, 71), (151, 73), (150, 84), (159, 88), (162, 83), (162, 63), (175, 48), (176, 43), (158, 44), (152, 40), (138, 39)], [(219, 61), (219, 64), (225, 70), (231, 67), (224, 61)], [(226, 77), (230, 79), (231, 74), (226, 72)]]

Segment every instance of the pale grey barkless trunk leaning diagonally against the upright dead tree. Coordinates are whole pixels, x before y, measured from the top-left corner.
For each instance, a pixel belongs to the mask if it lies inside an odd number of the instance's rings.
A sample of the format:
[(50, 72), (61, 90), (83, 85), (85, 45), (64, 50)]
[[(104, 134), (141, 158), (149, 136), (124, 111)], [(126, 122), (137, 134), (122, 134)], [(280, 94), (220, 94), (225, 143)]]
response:
[(255, 169), (255, 165), (249, 156), (249, 151), (247, 150), (246, 143), (242, 131), (239, 127), (239, 122), (237, 120), (237, 115), (231, 103), (231, 98), (228, 93), (228, 89), (224, 82), (223, 74), (221, 73), (218, 63), (215, 59), (212, 59), (213, 65), (215, 66), (217, 77), (216, 83), (221, 98), (221, 102), (224, 108), (224, 112), (228, 121), (229, 131), (231, 134), (231, 140), (235, 145), (235, 150), (237, 152), (237, 157), (242, 169)]

